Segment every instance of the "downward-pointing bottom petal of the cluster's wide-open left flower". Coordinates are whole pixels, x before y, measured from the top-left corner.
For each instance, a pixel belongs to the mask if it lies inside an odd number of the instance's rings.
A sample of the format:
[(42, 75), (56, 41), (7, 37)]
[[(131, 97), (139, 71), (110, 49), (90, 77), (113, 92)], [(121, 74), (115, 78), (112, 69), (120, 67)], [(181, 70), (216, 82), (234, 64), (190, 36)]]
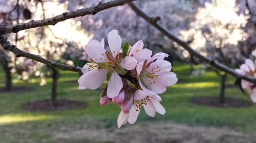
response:
[(122, 88), (123, 88), (122, 79), (117, 74), (117, 72), (114, 71), (108, 83), (108, 90), (107, 90), (108, 97), (114, 98), (120, 93), (120, 90)]

